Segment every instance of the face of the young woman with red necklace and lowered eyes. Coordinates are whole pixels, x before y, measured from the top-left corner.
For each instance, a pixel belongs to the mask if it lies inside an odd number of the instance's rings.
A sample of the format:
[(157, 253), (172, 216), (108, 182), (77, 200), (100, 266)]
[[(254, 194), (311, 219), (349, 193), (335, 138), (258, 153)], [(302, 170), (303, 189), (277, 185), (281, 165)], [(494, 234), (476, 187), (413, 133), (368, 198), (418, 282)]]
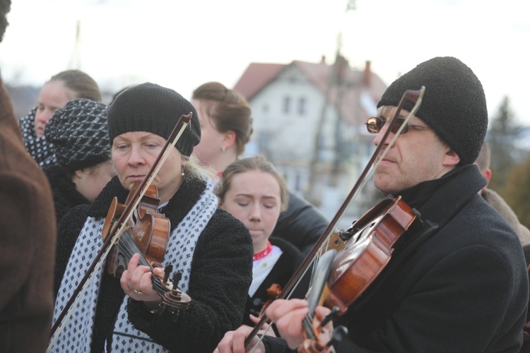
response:
[(257, 253), (266, 248), (280, 216), (280, 185), (272, 174), (261, 170), (234, 174), (220, 207), (245, 224)]

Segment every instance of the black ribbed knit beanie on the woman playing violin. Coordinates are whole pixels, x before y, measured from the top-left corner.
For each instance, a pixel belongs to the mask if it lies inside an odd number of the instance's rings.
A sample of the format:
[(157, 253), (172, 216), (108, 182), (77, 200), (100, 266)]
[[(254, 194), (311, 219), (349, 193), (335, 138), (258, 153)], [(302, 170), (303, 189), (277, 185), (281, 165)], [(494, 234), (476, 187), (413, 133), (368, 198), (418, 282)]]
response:
[(167, 140), (180, 116), (192, 113), (189, 125), (177, 141), (177, 150), (189, 157), (201, 140), (201, 126), (192, 103), (170, 88), (142, 83), (127, 88), (110, 104), (107, 120), (109, 138), (130, 131), (147, 131)]

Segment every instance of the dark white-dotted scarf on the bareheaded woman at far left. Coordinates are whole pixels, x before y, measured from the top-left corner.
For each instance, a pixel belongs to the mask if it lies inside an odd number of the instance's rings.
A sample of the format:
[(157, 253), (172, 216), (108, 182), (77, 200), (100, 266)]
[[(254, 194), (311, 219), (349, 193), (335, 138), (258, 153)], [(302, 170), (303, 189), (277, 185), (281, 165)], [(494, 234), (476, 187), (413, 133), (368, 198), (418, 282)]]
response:
[(22, 129), (25, 149), (28, 150), (31, 157), (40, 167), (55, 164), (55, 149), (53, 143), (46, 140), (45, 136), (35, 136), (35, 112), (37, 107), (33, 108), (28, 115), (20, 118), (19, 124)]

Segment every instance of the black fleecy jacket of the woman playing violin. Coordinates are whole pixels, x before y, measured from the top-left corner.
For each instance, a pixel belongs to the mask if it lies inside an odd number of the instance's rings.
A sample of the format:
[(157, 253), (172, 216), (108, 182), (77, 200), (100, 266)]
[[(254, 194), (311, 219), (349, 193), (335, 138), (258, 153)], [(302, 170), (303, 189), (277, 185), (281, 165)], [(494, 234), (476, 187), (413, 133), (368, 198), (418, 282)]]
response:
[[(163, 209), (172, 229), (194, 207), (205, 186), (204, 181), (184, 181)], [(105, 217), (112, 198), (117, 196), (119, 203), (123, 204), (127, 195), (118, 178), (114, 177), (92, 205), (77, 206), (64, 215), (58, 232), (56, 292), (86, 217)], [(248, 229), (218, 208), (201, 232), (194, 250), (187, 292), (192, 298), (189, 308), (182, 311), (177, 322), (173, 323), (169, 314), (153, 316), (143, 302), (129, 299), (129, 320), (135, 328), (166, 349), (213, 352), (225, 332), (235, 330), (242, 323), (252, 282), (252, 254), (252, 237)], [(112, 335), (123, 299), (119, 278), (105, 272), (95, 313), (92, 352), (102, 352), (105, 340)], [(107, 349), (112, 350), (114, 346), (107, 343)]]

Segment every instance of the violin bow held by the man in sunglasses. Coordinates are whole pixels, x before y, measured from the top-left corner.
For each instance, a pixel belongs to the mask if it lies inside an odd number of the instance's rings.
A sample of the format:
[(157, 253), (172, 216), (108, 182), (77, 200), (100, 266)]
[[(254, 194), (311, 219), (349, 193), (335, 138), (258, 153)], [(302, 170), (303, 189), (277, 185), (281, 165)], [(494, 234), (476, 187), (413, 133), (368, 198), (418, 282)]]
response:
[[(379, 163), (383, 160), (384, 155), (387, 154), (389, 149), (391, 148), (391, 145), (394, 144), (396, 141), (396, 138), (399, 137), (401, 134), (401, 131), (405, 128), (406, 124), (408, 124), (408, 121), (412, 119), (412, 116), (416, 114), (418, 109), (420, 108), (421, 102), (423, 100), (423, 95), (425, 94), (425, 86), (422, 86), (420, 90), (406, 90), (404, 94), (401, 96), (401, 100), (399, 101), (398, 107), (396, 109), (396, 112), (394, 112), (394, 116), (392, 116), (392, 119), (389, 123), (389, 126), (387, 128), (387, 131), (385, 131), (384, 136), (382, 137), (382, 141), (387, 140), (389, 133), (391, 129), (394, 127), (395, 124), (397, 124), (396, 117), (399, 116), (399, 113), (401, 112), (401, 109), (403, 109), (403, 106), (406, 101), (414, 102), (414, 106), (409, 112), (409, 114), (406, 116), (406, 119), (403, 121), (401, 126), (399, 127), (398, 131), (394, 134), (394, 137), (390, 140), (390, 142), (387, 144), (387, 148), (382, 152), (382, 155), (379, 157), (379, 160), (375, 163), (376, 158), (379, 155), (379, 152), (381, 152), (384, 143), (379, 143), (377, 145), (377, 148), (375, 148), (375, 151), (372, 154), (372, 157), (370, 157), (370, 160), (368, 161), (365, 169), (363, 169), (363, 172), (360, 174), (359, 179), (355, 182), (355, 185), (353, 186), (353, 189), (351, 189), (350, 193), (348, 193), (348, 196), (346, 196), (346, 199), (342, 203), (341, 207), (338, 209), (337, 213), (334, 215), (331, 222), (329, 222), (329, 225), (324, 229), (324, 232), (322, 232), (322, 235), (317, 239), (317, 242), (312, 247), (311, 251), (307, 254), (304, 261), (300, 264), (296, 272), (294, 273), (293, 277), (290, 278), (289, 282), (283, 287), (283, 290), (278, 295), (277, 299), (286, 299), (288, 297), (288, 294), (293, 291), (296, 285), (298, 285), (298, 282), (300, 282), (300, 278), (302, 278), (303, 275), (307, 272), (307, 269), (310, 267), (311, 263), (315, 261), (317, 258), (317, 253), (324, 251), (324, 242), (329, 240), (329, 235), (333, 232), (333, 229), (336, 227), (338, 221), (341, 220), (341, 217), (346, 212), (348, 206), (350, 205), (351, 201), (357, 196), (358, 191), (365, 186), (367, 180), (369, 177), (375, 172), (375, 169), (379, 165)], [(373, 165), (373, 168), (372, 168)], [(370, 172), (370, 168), (372, 172), (367, 177), (368, 172)], [(264, 315), (259, 318), (259, 322), (254, 326), (251, 333), (247, 336), (245, 339), (245, 347), (249, 347), (252, 338), (257, 335), (261, 327), (266, 323), (267, 317), (266, 317), (266, 311)], [(260, 337), (261, 340), (261, 337)], [(256, 349), (257, 345), (254, 347)], [(254, 349), (252, 349), (252, 352), (254, 352)]]

